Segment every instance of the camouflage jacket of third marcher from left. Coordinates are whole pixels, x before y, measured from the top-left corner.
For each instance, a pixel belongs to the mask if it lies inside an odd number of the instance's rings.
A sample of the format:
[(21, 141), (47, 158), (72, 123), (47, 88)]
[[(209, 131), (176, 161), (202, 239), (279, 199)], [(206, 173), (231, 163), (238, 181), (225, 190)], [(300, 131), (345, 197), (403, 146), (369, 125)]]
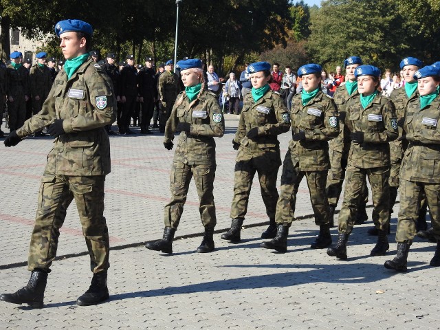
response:
[[(246, 134), (255, 127), (258, 128), (259, 136), (250, 140)], [(264, 156), (280, 166), (280, 143), (277, 135), (289, 131), (289, 127), (289, 111), (279, 94), (269, 89), (256, 102), (252, 93), (246, 94), (239, 128), (234, 137), (234, 142), (240, 144), (236, 162)]]

